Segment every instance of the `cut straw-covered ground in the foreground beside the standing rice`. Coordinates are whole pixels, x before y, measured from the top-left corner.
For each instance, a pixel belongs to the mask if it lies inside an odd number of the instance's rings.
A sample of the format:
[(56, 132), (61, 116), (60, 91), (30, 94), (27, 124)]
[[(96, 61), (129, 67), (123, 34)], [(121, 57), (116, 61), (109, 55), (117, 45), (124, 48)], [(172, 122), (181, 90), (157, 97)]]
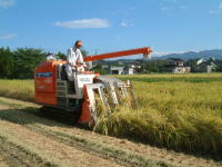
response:
[(31, 102), (0, 98), (0, 137), (33, 154), (27, 161), (38, 157), (42, 166), (222, 166), (211, 159), (67, 126), (42, 118), (36, 108)]

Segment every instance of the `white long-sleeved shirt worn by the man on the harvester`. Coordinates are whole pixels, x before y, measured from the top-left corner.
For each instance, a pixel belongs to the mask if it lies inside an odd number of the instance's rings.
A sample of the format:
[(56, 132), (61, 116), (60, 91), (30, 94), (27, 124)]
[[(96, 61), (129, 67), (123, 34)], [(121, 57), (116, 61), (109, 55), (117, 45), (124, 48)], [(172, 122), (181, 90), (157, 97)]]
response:
[(74, 66), (77, 63), (84, 63), (82, 53), (80, 49), (70, 48), (67, 51), (67, 61), (68, 63)]

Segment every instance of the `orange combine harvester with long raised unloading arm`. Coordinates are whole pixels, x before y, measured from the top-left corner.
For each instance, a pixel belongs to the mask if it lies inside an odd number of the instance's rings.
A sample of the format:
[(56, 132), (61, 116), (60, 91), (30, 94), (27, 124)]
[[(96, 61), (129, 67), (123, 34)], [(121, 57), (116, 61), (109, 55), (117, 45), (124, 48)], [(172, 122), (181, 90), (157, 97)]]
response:
[[(109, 52), (84, 57), (84, 61), (95, 61), (108, 58), (143, 53), (150, 58), (152, 50), (149, 47), (124, 51)], [(130, 81), (123, 82), (117, 78), (100, 76), (92, 71), (77, 72), (74, 82), (65, 77), (67, 61), (48, 60), (41, 62), (34, 71), (36, 102), (47, 109), (59, 109), (63, 114), (71, 114), (73, 124), (93, 126), (98, 120), (98, 99), (103, 104), (105, 112), (112, 112), (114, 106), (123, 105), (130, 99), (131, 107), (137, 107), (137, 100)], [(70, 92), (71, 87), (74, 88)], [(61, 112), (61, 114), (62, 114)]]

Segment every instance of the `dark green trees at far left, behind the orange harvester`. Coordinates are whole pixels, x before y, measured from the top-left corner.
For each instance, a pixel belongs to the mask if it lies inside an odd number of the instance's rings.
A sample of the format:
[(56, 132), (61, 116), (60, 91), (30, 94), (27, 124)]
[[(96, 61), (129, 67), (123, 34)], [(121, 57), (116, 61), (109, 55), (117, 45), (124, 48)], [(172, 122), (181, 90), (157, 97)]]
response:
[[(31, 79), (36, 67), (51, 55), (42, 49), (34, 48), (0, 48), (0, 78), (6, 79)], [(57, 56), (64, 59), (64, 55)]]

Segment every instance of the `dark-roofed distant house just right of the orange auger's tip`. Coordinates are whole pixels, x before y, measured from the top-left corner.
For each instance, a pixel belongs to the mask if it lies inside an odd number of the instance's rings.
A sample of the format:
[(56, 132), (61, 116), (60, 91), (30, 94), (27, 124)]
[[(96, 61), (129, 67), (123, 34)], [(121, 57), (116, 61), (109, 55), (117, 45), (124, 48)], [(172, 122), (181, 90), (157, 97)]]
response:
[(169, 58), (164, 66), (160, 68), (161, 72), (185, 73), (191, 71), (191, 67), (184, 66), (184, 60), (178, 58)]

